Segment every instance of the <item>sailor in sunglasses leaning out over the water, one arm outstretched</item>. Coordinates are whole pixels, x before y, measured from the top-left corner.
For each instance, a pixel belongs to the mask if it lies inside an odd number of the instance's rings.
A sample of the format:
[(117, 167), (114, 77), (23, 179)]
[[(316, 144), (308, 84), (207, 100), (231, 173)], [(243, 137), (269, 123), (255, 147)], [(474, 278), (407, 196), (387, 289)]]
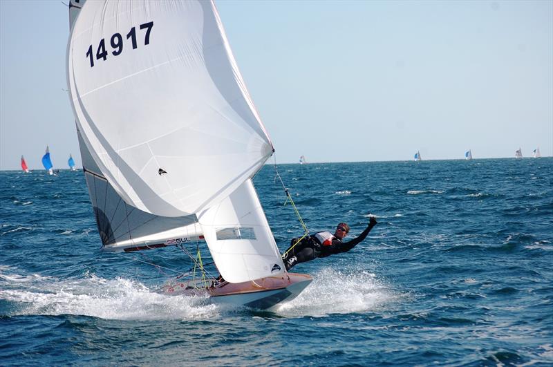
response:
[(350, 232), (350, 227), (346, 223), (339, 223), (334, 234), (330, 232), (317, 232), (303, 238), (299, 243), (298, 238), (292, 238), (290, 247), (284, 253), (284, 266), (286, 270), (290, 270), (299, 263), (305, 263), (318, 257), (348, 252), (365, 239), (368, 232), (371, 232), (376, 223), (376, 219), (371, 216), (365, 230), (359, 236), (353, 238), (353, 240), (346, 242), (342, 241), (348, 232)]

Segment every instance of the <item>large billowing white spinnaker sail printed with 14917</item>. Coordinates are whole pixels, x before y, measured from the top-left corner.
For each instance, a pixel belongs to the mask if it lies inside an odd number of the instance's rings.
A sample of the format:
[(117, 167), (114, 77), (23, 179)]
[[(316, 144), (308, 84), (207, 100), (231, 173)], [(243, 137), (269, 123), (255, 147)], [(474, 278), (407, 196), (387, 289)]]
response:
[(210, 1), (87, 1), (68, 44), (68, 84), (97, 167), (142, 211), (197, 213), (272, 154)]

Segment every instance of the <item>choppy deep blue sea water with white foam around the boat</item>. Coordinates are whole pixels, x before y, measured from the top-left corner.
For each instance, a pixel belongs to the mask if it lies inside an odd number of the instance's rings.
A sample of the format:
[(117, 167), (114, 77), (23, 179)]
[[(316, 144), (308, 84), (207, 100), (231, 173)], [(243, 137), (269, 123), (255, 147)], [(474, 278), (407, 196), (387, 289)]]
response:
[[(0, 172), (0, 365), (553, 364), (553, 158), (279, 171), (311, 232), (378, 225), (294, 267), (315, 281), (274, 312), (158, 294), (167, 274), (100, 251), (82, 171)], [(273, 167), (254, 182), (285, 250), (299, 222)]]

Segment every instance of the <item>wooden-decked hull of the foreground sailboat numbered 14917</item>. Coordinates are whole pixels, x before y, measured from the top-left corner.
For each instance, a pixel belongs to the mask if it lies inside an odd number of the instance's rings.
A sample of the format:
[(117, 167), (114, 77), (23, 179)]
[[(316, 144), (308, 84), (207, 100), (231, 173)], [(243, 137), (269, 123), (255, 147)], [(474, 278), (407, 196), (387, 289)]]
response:
[(308, 274), (286, 273), (243, 283), (210, 283), (206, 281), (185, 281), (170, 283), (162, 292), (171, 295), (209, 297), (214, 303), (246, 306), (266, 310), (274, 305), (296, 298), (313, 278)]

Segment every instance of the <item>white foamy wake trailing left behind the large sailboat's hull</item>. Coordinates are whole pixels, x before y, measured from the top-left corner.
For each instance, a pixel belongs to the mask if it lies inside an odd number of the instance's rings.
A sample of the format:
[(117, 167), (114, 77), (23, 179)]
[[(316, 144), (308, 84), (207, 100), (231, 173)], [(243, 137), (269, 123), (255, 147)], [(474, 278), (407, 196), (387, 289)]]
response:
[(205, 297), (167, 296), (129, 279), (91, 274), (60, 280), (10, 270), (0, 269), (0, 314), (7, 316), (75, 314), (142, 321), (205, 319), (221, 312)]

